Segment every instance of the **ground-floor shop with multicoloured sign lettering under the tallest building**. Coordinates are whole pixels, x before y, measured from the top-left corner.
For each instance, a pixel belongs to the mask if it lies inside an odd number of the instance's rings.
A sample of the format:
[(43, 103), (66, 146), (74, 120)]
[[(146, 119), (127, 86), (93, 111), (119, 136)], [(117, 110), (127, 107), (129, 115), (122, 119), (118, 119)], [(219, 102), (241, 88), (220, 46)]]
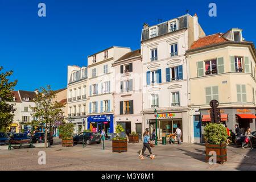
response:
[[(156, 129), (157, 120), (157, 129)], [(165, 112), (158, 113), (155, 118), (154, 113), (144, 114), (145, 128), (150, 129), (150, 136), (152, 137), (152, 131), (156, 130), (158, 134), (158, 140), (162, 140), (162, 137), (166, 137), (169, 134), (174, 134), (177, 127), (181, 129), (181, 140), (183, 142), (190, 142), (188, 112)]]

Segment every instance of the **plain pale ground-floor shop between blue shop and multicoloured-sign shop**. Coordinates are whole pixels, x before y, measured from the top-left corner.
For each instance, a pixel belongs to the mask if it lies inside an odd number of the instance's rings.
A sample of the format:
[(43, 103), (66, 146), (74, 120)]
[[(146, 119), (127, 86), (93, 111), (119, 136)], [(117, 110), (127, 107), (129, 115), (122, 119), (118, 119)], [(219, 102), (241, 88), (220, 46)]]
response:
[(114, 117), (114, 123), (121, 125), (125, 129), (127, 136), (132, 132), (136, 132), (139, 135), (139, 139), (142, 139), (142, 115), (141, 114), (129, 114), (129, 115), (117, 115)]

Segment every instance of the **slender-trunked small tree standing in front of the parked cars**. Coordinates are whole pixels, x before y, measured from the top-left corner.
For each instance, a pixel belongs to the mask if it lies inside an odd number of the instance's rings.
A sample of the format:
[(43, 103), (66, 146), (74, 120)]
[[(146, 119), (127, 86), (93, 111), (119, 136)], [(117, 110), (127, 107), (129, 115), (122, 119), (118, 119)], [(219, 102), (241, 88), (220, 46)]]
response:
[(44, 137), (44, 144), (47, 147), (47, 129), (48, 125), (54, 123), (55, 121), (64, 121), (63, 117), (63, 107), (59, 102), (54, 102), (56, 98), (56, 92), (51, 90), (51, 86), (47, 88), (40, 88), (39, 92), (35, 97), (35, 107), (31, 107), (35, 111), (34, 114), (31, 114), (33, 117), (37, 118), (38, 123), (43, 123), (43, 127), (46, 131)]

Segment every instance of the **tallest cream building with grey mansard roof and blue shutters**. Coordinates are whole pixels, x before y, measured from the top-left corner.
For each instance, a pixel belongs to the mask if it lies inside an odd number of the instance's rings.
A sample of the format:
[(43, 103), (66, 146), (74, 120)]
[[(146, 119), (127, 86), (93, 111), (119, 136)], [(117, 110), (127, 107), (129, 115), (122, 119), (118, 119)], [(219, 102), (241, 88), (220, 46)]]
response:
[(160, 140), (175, 133), (179, 126), (183, 132), (183, 142), (191, 142), (188, 62), (185, 51), (201, 36), (205, 34), (196, 14), (186, 14), (155, 26), (143, 26), (141, 53), (144, 129), (148, 127), (152, 133), (156, 128), (156, 109)]

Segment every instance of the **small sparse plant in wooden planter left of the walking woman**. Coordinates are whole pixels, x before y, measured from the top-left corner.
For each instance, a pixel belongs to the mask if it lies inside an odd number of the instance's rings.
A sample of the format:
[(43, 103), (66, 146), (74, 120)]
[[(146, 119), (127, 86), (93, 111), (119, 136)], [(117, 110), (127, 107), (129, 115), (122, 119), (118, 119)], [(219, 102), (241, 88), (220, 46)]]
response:
[(115, 127), (115, 132), (118, 134), (117, 137), (112, 139), (112, 151), (113, 152), (127, 152), (127, 138), (122, 137), (121, 133), (125, 131), (122, 125)]

